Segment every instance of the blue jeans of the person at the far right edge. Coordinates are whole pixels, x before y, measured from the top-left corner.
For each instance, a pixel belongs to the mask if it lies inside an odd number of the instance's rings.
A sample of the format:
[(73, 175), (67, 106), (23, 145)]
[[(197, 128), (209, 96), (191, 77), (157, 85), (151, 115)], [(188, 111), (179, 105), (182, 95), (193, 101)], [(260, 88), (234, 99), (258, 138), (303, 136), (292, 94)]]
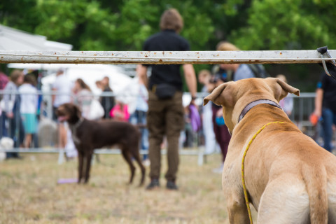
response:
[(332, 140), (332, 124), (336, 125), (336, 113), (332, 112), (330, 109), (322, 109), (322, 128), (323, 128), (323, 141), (324, 146), (327, 151), (331, 152), (331, 140)]

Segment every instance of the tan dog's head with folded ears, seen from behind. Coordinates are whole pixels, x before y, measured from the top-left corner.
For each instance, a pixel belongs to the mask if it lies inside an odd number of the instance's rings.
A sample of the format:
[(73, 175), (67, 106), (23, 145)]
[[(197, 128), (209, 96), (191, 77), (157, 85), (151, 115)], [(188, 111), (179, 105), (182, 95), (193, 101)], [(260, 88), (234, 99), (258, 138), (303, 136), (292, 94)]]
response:
[(239, 115), (245, 106), (258, 99), (279, 102), (288, 92), (300, 95), (300, 90), (288, 85), (279, 78), (246, 78), (237, 82), (223, 83), (204, 98), (204, 105), (211, 100), (223, 106), (225, 125), (230, 133), (238, 123)]

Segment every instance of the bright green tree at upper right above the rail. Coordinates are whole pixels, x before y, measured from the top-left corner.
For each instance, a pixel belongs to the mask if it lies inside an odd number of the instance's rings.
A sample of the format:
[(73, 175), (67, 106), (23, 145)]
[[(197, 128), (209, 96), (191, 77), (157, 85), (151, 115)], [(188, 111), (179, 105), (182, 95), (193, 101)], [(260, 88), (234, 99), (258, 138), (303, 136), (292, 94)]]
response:
[(243, 50), (335, 48), (335, 19), (331, 0), (254, 0), (247, 25), (230, 39)]

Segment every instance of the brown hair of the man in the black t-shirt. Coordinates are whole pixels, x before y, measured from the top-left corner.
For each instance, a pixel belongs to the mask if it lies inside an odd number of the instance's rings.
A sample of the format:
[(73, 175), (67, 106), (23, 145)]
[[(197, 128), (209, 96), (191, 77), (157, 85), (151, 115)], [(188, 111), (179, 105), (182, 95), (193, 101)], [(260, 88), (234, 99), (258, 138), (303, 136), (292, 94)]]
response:
[(174, 29), (174, 31), (179, 33), (183, 29), (183, 18), (179, 11), (175, 8), (165, 10), (161, 15), (160, 29)]

